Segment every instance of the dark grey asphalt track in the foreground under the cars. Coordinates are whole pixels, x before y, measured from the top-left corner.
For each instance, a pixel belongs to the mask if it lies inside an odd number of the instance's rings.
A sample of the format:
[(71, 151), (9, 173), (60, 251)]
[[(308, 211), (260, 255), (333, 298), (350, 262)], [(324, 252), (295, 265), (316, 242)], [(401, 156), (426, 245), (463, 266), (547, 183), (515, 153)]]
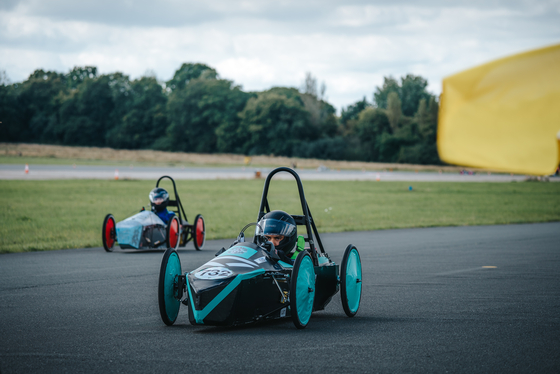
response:
[[(8, 373), (559, 373), (560, 223), (323, 235), (361, 253), (358, 314), (339, 295), (305, 330), (161, 322), (162, 252), (0, 256)], [(183, 270), (230, 241), (180, 250)]]

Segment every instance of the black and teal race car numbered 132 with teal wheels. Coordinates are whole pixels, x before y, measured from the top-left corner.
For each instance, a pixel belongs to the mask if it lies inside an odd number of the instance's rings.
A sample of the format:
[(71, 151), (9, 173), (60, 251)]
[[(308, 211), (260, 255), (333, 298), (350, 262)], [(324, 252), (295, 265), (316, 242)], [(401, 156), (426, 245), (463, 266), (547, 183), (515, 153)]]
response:
[[(291, 174), (298, 186), (303, 215), (292, 215), (305, 226), (307, 237), (298, 238), (299, 253), (293, 264), (278, 256), (274, 244), (262, 235), (259, 221), (269, 213), (268, 189), (279, 172)], [(244, 231), (256, 225), (252, 242)], [(291, 318), (305, 328), (313, 311), (323, 310), (341, 291), (342, 306), (353, 317), (362, 295), (362, 266), (358, 249), (349, 244), (341, 265), (334, 263), (323, 248), (315, 222), (305, 200), (298, 174), (281, 167), (273, 170), (264, 185), (257, 223), (245, 226), (229, 249), (199, 268), (183, 273), (179, 254), (165, 251), (161, 262), (158, 302), (166, 325), (173, 325), (181, 304), (188, 307), (193, 325), (237, 326), (266, 319)]]

